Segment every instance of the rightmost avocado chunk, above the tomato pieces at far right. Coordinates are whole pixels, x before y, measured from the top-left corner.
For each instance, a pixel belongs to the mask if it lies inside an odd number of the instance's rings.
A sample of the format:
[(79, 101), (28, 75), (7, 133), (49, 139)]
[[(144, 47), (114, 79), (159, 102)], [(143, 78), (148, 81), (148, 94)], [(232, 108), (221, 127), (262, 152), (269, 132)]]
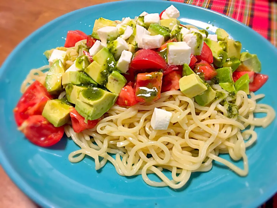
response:
[(256, 54), (242, 52), (239, 60), (241, 61), (241, 64), (244, 66), (244, 70), (253, 71), (255, 73), (260, 73), (262, 70), (261, 62), (259, 61)]

